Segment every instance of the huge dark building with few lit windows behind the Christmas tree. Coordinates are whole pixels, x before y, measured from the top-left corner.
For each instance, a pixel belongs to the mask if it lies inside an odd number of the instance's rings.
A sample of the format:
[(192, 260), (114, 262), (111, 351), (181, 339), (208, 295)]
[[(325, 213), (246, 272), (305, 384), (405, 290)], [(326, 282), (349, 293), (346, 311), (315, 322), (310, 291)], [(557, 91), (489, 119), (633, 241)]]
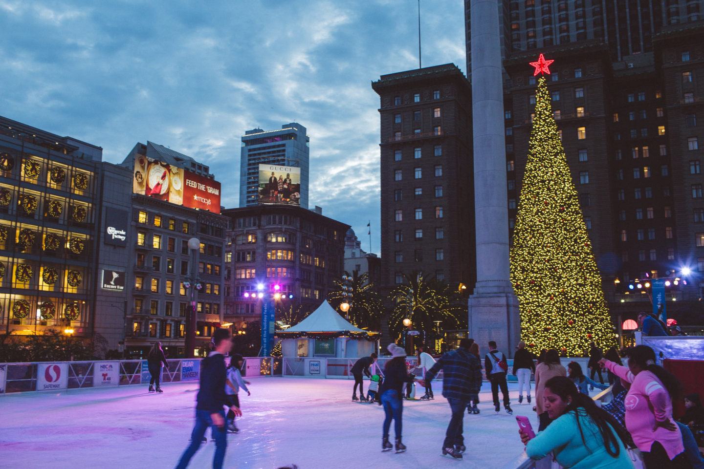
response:
[(528, 62), (544, 53), (555, 60), (546, 76), (553, 112), (615, 319), (651, 308), (650, 295), (627, 288), (635, 278), (682, 277), (692, 269), (686, 285), (668, 291), (667, 310), (700, 323), (701, 7), (700, 1), (501, 2), (509, 226), (535, 103)]

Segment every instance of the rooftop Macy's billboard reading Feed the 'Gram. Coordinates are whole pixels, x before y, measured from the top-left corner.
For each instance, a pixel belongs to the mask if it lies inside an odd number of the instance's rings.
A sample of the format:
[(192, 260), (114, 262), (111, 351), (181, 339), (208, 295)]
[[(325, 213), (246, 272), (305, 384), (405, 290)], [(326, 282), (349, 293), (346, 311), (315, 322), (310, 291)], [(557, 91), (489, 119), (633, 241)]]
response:
[(165, 162), (136, 155), (132, 192), (184, 207), (220, 213), (220, 183)]

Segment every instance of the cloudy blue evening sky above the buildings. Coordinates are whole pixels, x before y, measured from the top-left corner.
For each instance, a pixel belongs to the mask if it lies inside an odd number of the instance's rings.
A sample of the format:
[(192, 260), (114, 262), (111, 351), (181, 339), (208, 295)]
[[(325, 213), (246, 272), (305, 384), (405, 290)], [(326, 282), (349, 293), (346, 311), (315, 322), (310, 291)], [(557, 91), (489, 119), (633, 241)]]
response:
[[(423, 63), (465, 70), (463, 0), (422, 0)], [(210, 165), (239, 202), (240, 137), (296, 121), (310, 205), (379, 250), (379, 106), (417, 68), (415, 0), (0, 0), (0, 115), (103, 147), (147, 139)]]

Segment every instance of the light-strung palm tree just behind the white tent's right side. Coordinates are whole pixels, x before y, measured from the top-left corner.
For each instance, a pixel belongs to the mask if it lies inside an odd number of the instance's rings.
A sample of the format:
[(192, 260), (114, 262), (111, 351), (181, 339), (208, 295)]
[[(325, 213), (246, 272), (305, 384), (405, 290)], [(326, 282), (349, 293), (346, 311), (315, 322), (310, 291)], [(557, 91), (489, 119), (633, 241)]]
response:
[(384, 307), (376, 286), (369, 281), (369, 274), (364, 272), (357, 275), (345, 272), (345, 275), (351, 278), (351, 281), (346, 282), (341, 279), (334, 281), (336, 288), (327, 295), (327, 299), (338, 311), (341, 311), (340, 304), (347, 302), (350, 309), (346, 316), (358, 328), (375, 326)]

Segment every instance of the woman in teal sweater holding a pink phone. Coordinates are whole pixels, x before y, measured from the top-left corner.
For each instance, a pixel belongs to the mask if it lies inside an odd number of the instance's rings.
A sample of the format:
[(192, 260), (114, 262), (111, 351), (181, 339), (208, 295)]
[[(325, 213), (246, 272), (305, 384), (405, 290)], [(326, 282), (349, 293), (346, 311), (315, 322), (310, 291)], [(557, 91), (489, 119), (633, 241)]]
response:
[(633, 469), (625, 444), (630, 437), (594, 401), (580, 393), (570, 378), (555, 376), (543, 392), (543, 406), (553, 419), (546, 430), (530, 439), (519, 430), (530, 458), (551, 451), (563, 468)]

